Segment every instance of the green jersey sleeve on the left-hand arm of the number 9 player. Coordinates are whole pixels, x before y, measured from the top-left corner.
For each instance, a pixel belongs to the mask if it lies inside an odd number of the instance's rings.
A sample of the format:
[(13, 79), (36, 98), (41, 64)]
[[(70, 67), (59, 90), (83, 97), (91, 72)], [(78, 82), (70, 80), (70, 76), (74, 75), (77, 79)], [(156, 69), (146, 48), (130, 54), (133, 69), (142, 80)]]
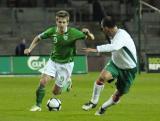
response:
[(40, 38), (40, 39), (50, 38), (50, 36), (53, 34), (53, 32), (54, 32), (54, 29), (53, 28), (49, 28), (46, 31), (44, 31), (41, 34), (39, 34), (38, 38)]

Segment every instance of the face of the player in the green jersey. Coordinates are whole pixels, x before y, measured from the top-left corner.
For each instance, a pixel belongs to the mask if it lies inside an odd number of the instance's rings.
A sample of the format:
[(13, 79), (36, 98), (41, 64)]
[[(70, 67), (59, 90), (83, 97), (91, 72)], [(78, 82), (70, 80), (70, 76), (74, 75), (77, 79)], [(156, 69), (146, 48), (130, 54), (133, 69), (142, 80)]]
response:
[(56, 24), (60, 31), (64, 31), (68, 26), (67, 18), (56, 17)]

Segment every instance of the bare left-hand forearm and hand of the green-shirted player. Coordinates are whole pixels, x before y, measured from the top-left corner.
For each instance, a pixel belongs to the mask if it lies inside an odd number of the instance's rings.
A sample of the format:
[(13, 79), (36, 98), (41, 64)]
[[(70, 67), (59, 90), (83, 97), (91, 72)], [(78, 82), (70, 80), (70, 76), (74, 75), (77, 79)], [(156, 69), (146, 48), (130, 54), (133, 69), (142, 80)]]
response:
[(36, 36), (33, 39), (31, 45), (29, 46), (29, 48), (27, 48), (27, 49), (24, 50), (24, 54), (29, 55), (31, 53), (31, 51), (36, 47), (36, 45), (38, 44), (39, 41), (40, 41), (39, 37)]

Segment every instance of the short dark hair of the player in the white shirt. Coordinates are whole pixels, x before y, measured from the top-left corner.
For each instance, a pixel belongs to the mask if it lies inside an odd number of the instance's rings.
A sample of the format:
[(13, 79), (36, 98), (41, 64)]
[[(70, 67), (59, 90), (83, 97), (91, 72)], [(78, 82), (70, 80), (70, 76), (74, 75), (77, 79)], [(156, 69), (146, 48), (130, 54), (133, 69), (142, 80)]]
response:
[(106, 16), (101, 21), (102, 27), (113, 28), (116, 26), (115, 20), (111, 16)]

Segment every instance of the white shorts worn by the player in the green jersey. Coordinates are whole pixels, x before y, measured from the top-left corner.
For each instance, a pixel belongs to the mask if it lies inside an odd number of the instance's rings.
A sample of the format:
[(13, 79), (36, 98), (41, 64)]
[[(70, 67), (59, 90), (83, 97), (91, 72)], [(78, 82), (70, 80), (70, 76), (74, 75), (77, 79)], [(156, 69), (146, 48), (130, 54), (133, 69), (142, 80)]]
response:
[(63, 87), (70, 79), (73, 67), (74, 62), (60, 64), (49, 59), (44, 68), (39, 71), (43, 74), (52, 76), (55, 78), (55, 84), (59, 87)]

